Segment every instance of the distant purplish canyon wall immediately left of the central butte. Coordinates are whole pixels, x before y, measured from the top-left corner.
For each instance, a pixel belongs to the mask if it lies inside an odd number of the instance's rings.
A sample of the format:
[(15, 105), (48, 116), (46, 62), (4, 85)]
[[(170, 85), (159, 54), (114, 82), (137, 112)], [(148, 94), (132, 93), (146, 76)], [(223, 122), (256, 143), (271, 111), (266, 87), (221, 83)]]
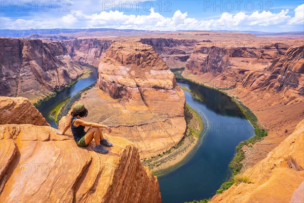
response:
[(66, 46), (67, 52), (73, 60), (97, 67), (112, 41), (90, 38), (62, 41), (62, 43)]

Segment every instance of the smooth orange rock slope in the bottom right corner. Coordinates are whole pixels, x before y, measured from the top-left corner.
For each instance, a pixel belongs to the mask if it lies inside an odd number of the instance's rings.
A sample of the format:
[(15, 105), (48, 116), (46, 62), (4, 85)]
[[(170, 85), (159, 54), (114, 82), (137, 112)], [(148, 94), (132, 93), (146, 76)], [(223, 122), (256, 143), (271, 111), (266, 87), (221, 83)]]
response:
[[(267, 157), (243, 173), (251, 183), (234, 184), (211, 202), (289, 202), (304, 180), (303, 126), (304, 120)], [(299, 195), (302, 201), (304, 195)]]

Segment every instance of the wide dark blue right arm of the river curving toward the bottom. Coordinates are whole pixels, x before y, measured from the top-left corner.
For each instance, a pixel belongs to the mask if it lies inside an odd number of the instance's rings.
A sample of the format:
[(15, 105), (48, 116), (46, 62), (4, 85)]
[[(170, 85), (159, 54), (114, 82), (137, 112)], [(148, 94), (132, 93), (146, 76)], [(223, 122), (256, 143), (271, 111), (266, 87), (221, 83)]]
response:
[[(253, 126), (229, 96), (192, 82), (178, 82), (192, 90), (193, 93), (184, 91), (186, 103), (202, 116), (205, 129), (197, 148), (184, 163), (158, 178), (163, 202), (212, 197), (231, 177), (229, 163), (236, 153), (236, 146), (254, 135)], [(200, 100), (194, 99), (192, 94)]]

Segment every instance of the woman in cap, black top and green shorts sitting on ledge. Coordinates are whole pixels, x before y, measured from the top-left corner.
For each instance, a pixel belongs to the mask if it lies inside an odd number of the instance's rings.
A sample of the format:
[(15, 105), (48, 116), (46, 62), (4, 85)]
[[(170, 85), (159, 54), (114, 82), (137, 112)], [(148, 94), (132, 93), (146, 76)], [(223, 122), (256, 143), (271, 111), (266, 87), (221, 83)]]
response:
[[(71, 127), (74, 140), (78, 146), (86, 147), (94, 138), (96, 144), (94, 151), (102, 154), (108, 153), (108, 150), (103, 148), (103, 146), (112, 147), (113, 145), (103, 138), (102, 128), (107, 129), (109, 132), (111, 132), (111, 128), (106, 125), (89, 123), (82, 120), (82, 118), (86, 117), (87, 115), (88, 110), (83, 104), (79, 103), (75, 105), (67, 119), (67, 121), (69, 121), (68, 124), (64, 127), (62, 132), (58, 131), (57, 133), (64, 134), (66, 130)], [(86, 126), (90, 127), (87, 131), (85, 131)]]

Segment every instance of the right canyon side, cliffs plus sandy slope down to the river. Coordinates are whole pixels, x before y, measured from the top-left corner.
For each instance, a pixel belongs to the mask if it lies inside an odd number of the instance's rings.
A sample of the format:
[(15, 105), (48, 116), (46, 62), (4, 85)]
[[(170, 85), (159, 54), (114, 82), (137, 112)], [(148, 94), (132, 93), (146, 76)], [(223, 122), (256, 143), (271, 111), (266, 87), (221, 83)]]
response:
[(268, 137), (256, 143), (256, 148), (245, 149), (244, 163), (248, 167), (278, 146), (288, 136), (287, 132), (292, 132), (304, 118), (304, 61), (300, 43), (298, 40), (274, 42), (265, 50), (259, 49), (258, 43), (250, 49), (197, 45), (187, 60), (182, 74), (185, 78), (235, 97), (268, 130)]

